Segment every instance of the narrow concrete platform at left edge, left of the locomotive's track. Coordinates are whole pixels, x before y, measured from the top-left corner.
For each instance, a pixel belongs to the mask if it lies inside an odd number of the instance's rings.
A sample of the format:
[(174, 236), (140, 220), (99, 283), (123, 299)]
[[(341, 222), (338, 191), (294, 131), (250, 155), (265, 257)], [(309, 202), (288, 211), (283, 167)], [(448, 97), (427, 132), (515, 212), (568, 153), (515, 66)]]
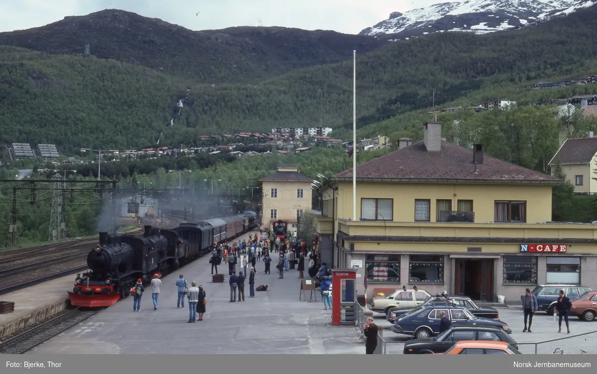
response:
[(70, 291), (76, 274), (48, 280), (38, 285), (0, 295), (14, 303), (13, 313), (0, 314), (0, 341), (24, 328), (35, 325), (69, 306)]

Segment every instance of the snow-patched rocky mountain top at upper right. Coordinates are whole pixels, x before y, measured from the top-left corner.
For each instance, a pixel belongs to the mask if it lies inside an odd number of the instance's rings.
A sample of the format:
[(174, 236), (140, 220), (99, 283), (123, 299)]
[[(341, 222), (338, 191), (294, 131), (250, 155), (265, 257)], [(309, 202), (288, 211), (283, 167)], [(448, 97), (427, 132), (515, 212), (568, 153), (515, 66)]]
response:
[(434, 4), (390, 18), (361, 31), (361, 35), (392, 34), (409, 38), (434, 32), (488, 33), (516, 29), (550, 12), (572, 7), (578, 0), (463, 0)]

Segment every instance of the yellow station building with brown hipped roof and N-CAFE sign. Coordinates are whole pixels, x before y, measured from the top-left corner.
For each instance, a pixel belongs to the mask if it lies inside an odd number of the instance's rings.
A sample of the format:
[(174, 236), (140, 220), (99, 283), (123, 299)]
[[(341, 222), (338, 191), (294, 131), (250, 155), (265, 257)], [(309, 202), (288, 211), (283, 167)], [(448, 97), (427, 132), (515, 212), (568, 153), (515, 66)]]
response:
[(597, 225), (549, 222), (561, 180), (442, 141), (441, 123), (423, 133), (356, 168), (356, 217), (352, 169), (322, 181), (322, 261), (358, 265), (370, 298), (416, 285), (519, 303), (541, 283), (597, 283)]

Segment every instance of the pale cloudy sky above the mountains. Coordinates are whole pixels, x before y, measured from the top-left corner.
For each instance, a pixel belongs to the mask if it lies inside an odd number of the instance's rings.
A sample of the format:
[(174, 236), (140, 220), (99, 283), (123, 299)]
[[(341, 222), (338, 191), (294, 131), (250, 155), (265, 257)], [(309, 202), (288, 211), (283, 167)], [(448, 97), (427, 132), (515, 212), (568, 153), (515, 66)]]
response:
[[(191, 30), (283, 26), (356, 34), (390, 13), (453, 0), (0, 0), (0, 32), (30, 29), (104, 9), (161, 18)], [(283, 4), (283, 5), (282, 5)]]

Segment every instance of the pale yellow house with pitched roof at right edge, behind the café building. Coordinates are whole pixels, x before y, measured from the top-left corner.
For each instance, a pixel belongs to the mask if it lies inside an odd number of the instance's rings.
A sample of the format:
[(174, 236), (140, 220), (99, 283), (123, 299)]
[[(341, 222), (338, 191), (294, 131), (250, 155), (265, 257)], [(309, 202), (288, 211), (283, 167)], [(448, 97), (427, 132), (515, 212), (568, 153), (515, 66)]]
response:
[(587, 138), (566, 139), (558, 149), (549, 166), (555, 170), (559, 164), (566, 179), (574, 186), (574, 193), (593, 195), (597, 192), (597, 181), (593, 179), (597, 170), (597, 138), (589, 132)]

